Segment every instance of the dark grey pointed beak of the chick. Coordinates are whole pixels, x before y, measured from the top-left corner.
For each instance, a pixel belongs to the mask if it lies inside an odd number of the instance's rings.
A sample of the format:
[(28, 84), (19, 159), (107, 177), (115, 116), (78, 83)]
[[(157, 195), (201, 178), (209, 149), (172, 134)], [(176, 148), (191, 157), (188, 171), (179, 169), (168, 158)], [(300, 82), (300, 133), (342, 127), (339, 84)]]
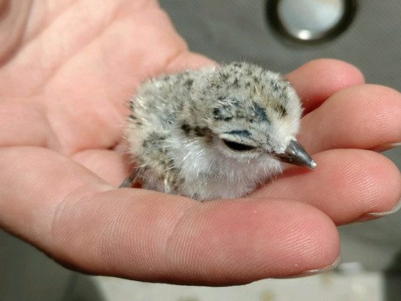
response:
[(316, 167), (315, 161), (306, 153), (304, 147), (295, 140), (290, 141), (284, 153), (274, 154), (274, 157), (281, 162), (306, 167), (308, 169), (315, 169)]

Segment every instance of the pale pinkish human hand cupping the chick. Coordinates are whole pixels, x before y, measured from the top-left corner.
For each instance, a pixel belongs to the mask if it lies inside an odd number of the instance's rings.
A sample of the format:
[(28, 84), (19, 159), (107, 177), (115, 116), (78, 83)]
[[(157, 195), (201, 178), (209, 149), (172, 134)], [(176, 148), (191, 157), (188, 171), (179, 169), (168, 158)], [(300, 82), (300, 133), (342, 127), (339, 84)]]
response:
[(243, 284), (324, 268), (336, 225), (391, 210), (401, 95), (321, 59), (287, 75), (317, 162), (244, 199), (118, 189), (125, 102), (152, 75), (212, 63), (150, 0), (0, 0), (0, 226), (82, 272)]

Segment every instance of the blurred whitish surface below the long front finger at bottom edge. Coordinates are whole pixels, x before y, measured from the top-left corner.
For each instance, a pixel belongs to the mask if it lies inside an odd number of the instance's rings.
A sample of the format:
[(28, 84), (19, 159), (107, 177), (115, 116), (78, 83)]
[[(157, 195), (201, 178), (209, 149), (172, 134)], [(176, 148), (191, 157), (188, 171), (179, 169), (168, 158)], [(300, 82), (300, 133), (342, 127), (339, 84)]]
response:
[(378, 272), (329, 272), (223, 288), (149, 284), (112, 277), (93, 280), (107, 301), (384, 301), (383, 278)]

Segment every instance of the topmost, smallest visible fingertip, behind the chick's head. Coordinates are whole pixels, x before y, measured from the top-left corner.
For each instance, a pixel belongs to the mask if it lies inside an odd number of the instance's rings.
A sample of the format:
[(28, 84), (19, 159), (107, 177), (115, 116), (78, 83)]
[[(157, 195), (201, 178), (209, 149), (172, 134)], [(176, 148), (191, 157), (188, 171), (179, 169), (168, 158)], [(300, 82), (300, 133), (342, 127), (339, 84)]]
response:
[(333, 93), (365, 82), (353, 65), (334, 59), (310, 61), (290, 72), (286, 78), (301, 98), (305, 114), (319, 107)]

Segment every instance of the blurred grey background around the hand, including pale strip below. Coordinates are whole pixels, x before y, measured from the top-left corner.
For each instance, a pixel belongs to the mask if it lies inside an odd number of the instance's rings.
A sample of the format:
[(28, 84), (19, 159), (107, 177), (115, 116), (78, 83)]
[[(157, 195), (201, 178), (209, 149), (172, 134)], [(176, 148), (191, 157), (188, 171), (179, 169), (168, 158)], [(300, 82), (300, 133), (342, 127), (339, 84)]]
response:
[[(401, 91), (401, 1), (160, 0), (189, 48), (286, 73), (317, 58), (356, 65)], [(401, 129), (400, 129), (401, 130)], [(384, 153), (401, 168), (401, 148)], [(0, 301), (401, 300), (401, 212), (340, 227), (342, 263), (302, 279), (231, 288), (146, 284), (66, 270), (0, 232)]]

